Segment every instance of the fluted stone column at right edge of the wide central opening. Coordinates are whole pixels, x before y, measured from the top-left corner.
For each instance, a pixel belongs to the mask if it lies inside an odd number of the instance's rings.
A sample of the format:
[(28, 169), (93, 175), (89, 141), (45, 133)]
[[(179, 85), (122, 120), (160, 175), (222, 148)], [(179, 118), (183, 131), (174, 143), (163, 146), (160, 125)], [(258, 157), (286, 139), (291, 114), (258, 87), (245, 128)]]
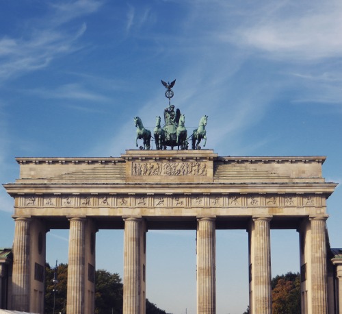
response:
[(215, 218), (197, 219), (197, 314), (216, 313)]

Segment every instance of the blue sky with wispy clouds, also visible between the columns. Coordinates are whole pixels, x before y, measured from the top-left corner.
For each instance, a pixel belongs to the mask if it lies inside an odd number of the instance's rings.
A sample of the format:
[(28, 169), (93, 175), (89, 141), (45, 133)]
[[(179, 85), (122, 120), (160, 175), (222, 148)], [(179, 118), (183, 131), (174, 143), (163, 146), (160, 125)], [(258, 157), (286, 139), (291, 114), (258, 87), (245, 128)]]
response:
[[(342, 181), (341, 1), (0, 0), (0, 181), (16, 156), (120, 156), (133, 117), (155, 125), (172, 103), (220, 156), (328, 156)], [(328, 200), (342, 247), (342, 191)], [(0, 191), (0, 246), (12, 246), (13, 201)], [(245, 230), (218, 231), (218, 314), (248, 304)], [(47, 235), (66, 263), (68, 232)], [(97, 267), (122, 274), (122, 231), (97, 234)], [(56, 253), (57, 252), (57, 253)], [(148, 232), (147, 297), (196, 312), (195, 232)], [(57, 256), (56, 256), (57, 255)], [(287, 258), (284, 258), (287, 256)], [(298, 271), (298, 234), (272, 231), (272, 274)]]

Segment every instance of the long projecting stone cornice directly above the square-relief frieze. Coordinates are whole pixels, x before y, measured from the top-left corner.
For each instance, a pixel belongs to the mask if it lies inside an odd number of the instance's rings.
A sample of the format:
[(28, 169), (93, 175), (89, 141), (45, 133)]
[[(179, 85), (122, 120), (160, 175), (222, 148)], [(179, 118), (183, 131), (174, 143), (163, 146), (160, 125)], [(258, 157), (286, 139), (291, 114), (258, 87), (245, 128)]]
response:
[(267, 182), (267, 183), (65, 183), (3, 184), (16, 194), (35, 193), (321, 193), (328, 197), (337, 184), (332, 182)]

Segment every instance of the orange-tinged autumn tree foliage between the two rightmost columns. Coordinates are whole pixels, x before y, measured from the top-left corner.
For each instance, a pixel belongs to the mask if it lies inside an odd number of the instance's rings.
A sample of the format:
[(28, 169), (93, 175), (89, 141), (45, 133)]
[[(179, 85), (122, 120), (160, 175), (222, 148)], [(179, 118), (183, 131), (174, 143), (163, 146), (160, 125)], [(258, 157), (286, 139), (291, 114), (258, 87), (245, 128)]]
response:
[(300, 314), (300, 274), (291, 272), (272, 280), (272, 313)]

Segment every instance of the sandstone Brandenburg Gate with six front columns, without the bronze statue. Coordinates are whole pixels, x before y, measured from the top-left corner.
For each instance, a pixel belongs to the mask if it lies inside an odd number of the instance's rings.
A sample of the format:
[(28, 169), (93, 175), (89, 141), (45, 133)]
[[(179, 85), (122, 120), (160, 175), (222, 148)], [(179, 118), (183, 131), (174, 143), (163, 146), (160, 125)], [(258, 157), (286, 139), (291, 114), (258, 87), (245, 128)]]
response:
[[(270, 230), (300, 241), (302, 313), (333, 313), (323, 156), (222, 157), (210, 149), (118, 158), (16, 158), (12, 309), (43, 313), (46, 234), (69, 228), (67, 313), (94, 313), (96, 231), (124, 229), (124, 314), (145, 313), (146, 232), (196, 233), (197, 313), (215, 313), (215, 230), (249, 233), (251, 313), (272, 313)], [(247, 250), (247, 247), (246, 247)]]

